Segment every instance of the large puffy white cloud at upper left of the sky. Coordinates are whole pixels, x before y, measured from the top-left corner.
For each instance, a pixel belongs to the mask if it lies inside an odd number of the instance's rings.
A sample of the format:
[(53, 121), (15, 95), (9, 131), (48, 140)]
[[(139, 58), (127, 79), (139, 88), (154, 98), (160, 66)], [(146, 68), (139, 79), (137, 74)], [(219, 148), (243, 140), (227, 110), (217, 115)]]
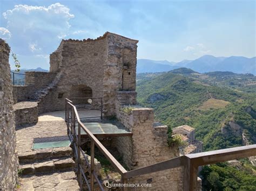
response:
[[(11, 32), (10, 44), (23, 55), (51, 53), (60, 38), (69, 33), (70, 9), (60, 3), (45, 6), (15, 5), (6, 10), (3, 17)], [(36, 42), (36, 43), (35, 43)], [(25, 48), (27, 47), (27, 48)]]

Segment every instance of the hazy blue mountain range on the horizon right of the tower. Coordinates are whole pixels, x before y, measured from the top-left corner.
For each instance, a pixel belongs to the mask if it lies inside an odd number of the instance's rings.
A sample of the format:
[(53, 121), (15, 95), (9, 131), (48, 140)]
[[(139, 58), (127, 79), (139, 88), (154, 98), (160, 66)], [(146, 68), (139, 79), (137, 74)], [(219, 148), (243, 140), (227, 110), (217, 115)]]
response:
[(178, 63), (169, 62), (167, 60), (137, 60), (137, 73), (165, 72), (180, 67), (186, 67), (200, 73), (230, 71), (234, 73), (252, 73), (256, 75), (256, 57), (214, 57), (205, 55), (196, 60), (183, 60)]

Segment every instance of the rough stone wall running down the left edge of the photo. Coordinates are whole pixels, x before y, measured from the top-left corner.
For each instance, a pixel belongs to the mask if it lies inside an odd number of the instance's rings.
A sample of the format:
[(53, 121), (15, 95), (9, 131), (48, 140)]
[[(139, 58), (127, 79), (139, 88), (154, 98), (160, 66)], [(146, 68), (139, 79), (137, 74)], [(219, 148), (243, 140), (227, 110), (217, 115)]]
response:
[(0, 190), (14, 190), (18, 174), (9, 53), (0, 39)]

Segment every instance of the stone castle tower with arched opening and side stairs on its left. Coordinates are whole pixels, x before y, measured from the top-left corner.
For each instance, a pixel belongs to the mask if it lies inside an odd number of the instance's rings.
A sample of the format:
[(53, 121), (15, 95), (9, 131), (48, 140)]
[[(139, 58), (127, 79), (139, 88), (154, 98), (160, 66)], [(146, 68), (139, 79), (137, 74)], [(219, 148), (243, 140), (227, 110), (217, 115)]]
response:
[(65, 98), (103, 97), (104, 115), (116, 115), (117, 97), (136, 101), (137, 43), (109, 32), (95, 40), (62, 40), (50, 54), (50, 72), (26, 72), (16, 101), (39, 101), (41, 114), (64, 110)]

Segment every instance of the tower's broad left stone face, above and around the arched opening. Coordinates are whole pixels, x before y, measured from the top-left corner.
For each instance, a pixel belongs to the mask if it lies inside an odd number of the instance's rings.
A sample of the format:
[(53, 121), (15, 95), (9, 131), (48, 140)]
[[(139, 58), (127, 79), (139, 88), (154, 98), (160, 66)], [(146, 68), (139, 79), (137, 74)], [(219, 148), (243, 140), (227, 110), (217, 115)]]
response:
[[(65, 98), (87, 97), (79, 87), (90, 87), (92, 97), (103, 97), (104, 62), (107, 58), (106, 40), (63, 40), (50, 56), (50, 72), (58, 72), (56, 87), (44, 98), (48, 111), (63, 110)], [(61, 96), (60, 96), (61, 95)], [(39, 104), (40, 107), (40, 104)], [(40, 110), (40, 109), (39, 109)]]

